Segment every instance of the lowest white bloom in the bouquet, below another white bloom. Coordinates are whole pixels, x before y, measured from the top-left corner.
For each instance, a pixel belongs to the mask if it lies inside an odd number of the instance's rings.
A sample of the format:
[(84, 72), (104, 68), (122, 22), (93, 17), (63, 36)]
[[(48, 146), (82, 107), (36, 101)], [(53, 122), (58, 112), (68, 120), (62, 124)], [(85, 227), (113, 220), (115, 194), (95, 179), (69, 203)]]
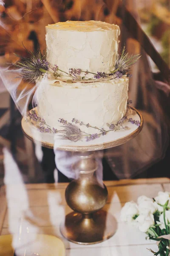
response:
[(135, 221), (137, 222), (139, 230), (144, 233), (147, 232), (150, 226), (155, 224), (153, 214), (140, 214)]

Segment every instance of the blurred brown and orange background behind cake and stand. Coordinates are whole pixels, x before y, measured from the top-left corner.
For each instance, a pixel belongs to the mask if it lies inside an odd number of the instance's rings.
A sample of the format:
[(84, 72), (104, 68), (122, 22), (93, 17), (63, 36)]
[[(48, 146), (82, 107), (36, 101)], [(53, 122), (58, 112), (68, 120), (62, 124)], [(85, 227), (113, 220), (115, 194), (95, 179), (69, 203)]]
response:
[[(0, 0), (0, 77), (9, 63), (26, 55), (23, 45), (33, 52), (39, 45), (45, 50), (46, 25), (66, 20), (118, 24), (119, 50), (126, 45), (130, 53), (142, 54), (132, 70), (129, 99), (144, 116), (144, 129), (126, 145), (102, 152), (104, 180), (170, 177), (170, 1)], [(53, 183), (55, 175), (59, 182), (69, 181), (57, 171), (53, 150), (38, 148), (23, 135), (22, 116), (6, 84), (0, 80), (0, 185), (6, 162), (11, 177), (17, 164), (25, 183)], [(22, 81), (18, 90), (26, 85), (34, 86)]]

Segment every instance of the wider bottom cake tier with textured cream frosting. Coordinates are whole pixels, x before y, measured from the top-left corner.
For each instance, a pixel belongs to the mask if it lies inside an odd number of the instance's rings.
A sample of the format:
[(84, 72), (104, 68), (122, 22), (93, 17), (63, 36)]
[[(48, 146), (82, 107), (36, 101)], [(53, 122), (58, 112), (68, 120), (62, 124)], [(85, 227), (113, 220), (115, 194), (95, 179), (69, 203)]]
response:
[(60, 119), (70, 123), (76, 119), (87, 133), (96, 133), (88, 124), (108, 129), (126, 113), (128, 81), (126, 76), (88, 83), (43, 79), (35, 95), (38, 114), (51, 128), (61, 129)]

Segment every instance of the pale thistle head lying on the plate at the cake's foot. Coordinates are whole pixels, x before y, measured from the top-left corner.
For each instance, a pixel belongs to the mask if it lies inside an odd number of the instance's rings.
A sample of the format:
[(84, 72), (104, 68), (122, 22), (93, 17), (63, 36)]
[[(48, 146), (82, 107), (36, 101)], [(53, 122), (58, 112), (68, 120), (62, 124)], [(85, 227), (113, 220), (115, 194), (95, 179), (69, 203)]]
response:
[(82, 137), (82, 132), (80, 129), (73, 124), (64, 124), (62, 126), (64, 129), (60, 132), (62, 132), (62, 135), (59, 135), (63, 140), (71, 140), (74, 142), (77, 142)]

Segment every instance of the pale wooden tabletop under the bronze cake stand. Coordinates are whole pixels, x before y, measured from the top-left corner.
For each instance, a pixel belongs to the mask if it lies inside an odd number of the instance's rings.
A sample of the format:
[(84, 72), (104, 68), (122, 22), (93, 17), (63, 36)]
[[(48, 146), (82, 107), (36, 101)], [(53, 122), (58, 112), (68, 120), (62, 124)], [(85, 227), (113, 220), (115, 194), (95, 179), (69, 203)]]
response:
[(0, 189), (0, 235), (16, 234), (20, 218), (24, 218), (30, 232), (58, 236), (69, 256), (152, 256), (146, 248), (157, 251), (153, 241), (137, 228), (120, 221), (120, 210), (127, 201), (136, 201), (140, 195), (155, 197), (159, 191), (170, 192), (170, 179), (139, 179), (106, 181), (108, 201), (104, 209), (116, 218), (118, 229), (113, 237), (99, 244), (79, 245), (64, 239), (59, 224), (72, 210), (65, 201), (67, 183), (17, 184)]

